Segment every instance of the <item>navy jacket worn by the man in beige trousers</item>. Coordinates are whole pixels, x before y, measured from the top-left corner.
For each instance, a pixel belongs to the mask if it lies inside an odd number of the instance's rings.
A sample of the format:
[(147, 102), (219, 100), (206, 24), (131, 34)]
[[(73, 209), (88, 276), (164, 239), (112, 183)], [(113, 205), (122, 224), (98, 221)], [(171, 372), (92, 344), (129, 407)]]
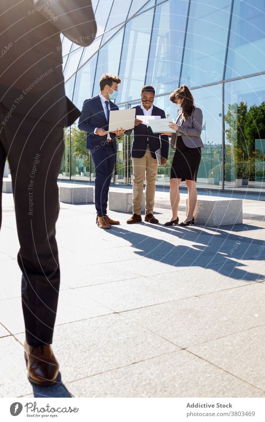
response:
[[(136, 116), (140, 115), (143, 116), (144, 112), (140, 105), (133, 107), (136, 109)], [(160, 116), (161, 119), (165, 119), (165, 111), (161, 108), (153, 106), (152, 116)], [(144, 124), (140, 124), (135, 126), (133, 133), (133, 142), (131, 148), (131, 156), (135, 158), (142, 158), (145, 155), (146, 148), (147, 148), (147, 138), (148, 144), (150, 148), (150, 152), (153, 158), (156, 158), (155, 151), (158, 150), (160, 147), (162, 149), (162, 157), (168, 158), (169, 155), (169, 137), (166, 135), (160, 135), (159, 133), (153, 133), (150, 126), (146, 126)]]

